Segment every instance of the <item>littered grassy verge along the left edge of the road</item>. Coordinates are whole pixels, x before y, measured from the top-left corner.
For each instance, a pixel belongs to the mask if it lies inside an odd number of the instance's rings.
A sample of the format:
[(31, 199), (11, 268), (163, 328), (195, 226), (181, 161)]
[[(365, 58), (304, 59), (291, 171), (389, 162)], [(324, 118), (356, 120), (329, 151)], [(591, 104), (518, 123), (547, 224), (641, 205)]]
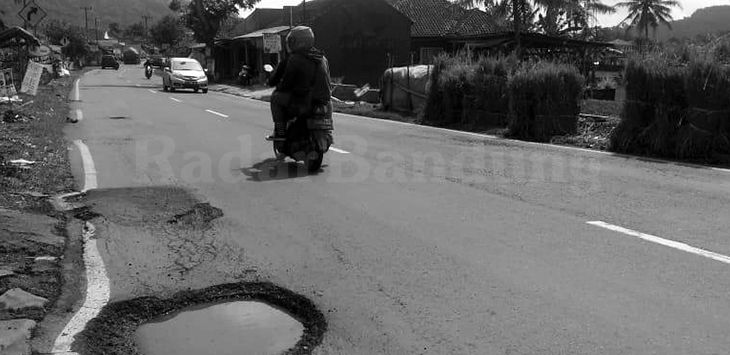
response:
[[(12, 110), (23, 119), (0, 120), (0, 207), (50, 212), (41, 194), (53, 195), (74, 188), (63, 127), (68, 114), (68, 92), (78, 73), (38, 87), (36, 96), (22, 95), (23, 106), (0, 106), (0, 117)], [(10, 160), (35, 161), (26, 168)]]

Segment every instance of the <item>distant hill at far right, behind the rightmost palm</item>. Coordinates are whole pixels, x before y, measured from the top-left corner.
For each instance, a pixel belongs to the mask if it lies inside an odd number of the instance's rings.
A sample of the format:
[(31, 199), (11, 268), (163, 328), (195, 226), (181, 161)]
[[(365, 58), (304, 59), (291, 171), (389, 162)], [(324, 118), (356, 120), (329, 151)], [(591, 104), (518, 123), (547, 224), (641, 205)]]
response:
[(695, 11), (692, 16), (672, 21), (672, 29), (666, 26), (657, 28), (657, 39), (666, 41), (694, 38), (707, 33), (730, 32), (730, 6), (711, 6)]

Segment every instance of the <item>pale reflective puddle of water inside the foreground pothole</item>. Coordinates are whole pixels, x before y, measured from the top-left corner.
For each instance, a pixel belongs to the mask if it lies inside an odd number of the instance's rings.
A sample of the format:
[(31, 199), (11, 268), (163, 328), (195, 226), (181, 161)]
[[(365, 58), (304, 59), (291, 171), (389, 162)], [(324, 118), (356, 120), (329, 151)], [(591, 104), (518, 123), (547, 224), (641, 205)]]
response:
[(183, 309), (143, 324), (135, 343), (144, 355), (281, 354), (301, 339), (303, 325), (261, 302)]

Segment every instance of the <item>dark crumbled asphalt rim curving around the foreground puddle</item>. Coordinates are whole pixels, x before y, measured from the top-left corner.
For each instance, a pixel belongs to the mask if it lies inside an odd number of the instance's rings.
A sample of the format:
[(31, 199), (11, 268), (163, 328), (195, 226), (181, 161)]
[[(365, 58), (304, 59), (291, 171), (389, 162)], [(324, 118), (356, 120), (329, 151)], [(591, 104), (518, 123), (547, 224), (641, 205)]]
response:
[(141, 297), (107, 305), (77, 336), (73, 350), (82, 354), (140, 354), (134, 332), (150, 320), (188, 307), (230, 301), (261, 301), (304, 325), (302, 339), (285, 354), (309, 354), (327, 330), (324, 315), (304, 296), (272, 283), (229, 283), (184, 291), (170, 299)]

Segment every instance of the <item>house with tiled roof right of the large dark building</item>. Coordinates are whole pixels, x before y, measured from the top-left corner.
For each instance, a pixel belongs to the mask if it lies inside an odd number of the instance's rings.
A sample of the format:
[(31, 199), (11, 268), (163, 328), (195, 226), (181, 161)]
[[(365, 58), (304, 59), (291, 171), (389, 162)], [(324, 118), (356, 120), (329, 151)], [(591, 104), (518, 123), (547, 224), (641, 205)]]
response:
[(391, 0), (413, 21), (411, 51), (414, 62), (430, 64), (441, 52), (453, 52), (475, 38), (502, 30), (497, 21), (479, 9), (466, 9), (448, 0)]

